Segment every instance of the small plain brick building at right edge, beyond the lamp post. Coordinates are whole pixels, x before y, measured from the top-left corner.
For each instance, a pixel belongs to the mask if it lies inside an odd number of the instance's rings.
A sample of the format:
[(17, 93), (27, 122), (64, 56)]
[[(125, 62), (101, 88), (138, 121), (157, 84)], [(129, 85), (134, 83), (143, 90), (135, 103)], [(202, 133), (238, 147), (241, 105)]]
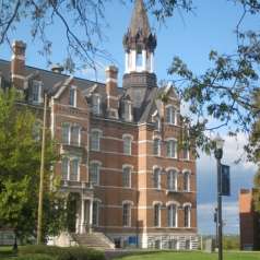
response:
[(253, 210), (253, 189), (239, 194), (240, 249), (260, 249), (260, 214)]

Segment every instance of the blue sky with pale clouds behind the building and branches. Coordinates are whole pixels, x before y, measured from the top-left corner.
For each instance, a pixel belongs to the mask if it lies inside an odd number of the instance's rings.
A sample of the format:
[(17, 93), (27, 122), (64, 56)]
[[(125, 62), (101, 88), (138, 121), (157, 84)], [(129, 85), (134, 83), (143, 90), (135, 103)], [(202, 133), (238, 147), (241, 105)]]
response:
[[(132, 2), (127, 0), (126, 4), (120, 1), (113, 1), (106, 4), (105, 19), (108, 25), (104, 25), (103, 33), (105, 40), (104, 48), (111, 55), (114, 63), (119, 68), (119, 82), (125, 70), (125, 52), (122, 36), (127, 32), (132, 11)], [(158, 80), (170, 81), (167, 69), (174, 56), (179, 56), (197, 73), (209, 68), (208, 60), (211, 49), (220, 54), (232, 54), (236, 48), (234, 29), (243, 13), (240, 7), (227, 0), (194, 0), (192, 13), (177, 11), (165, 24), (159, 24), (150, 15), (151, 26), (156, 32), (157, 48), (155, 51), (155, 72)], [(245, 28), (257, 26), (256, 17), (248, 17), (243, 23)], [(46, 59), (38, 55), (39, 43), (28, 40), (28, 24), (21, 23), (17, 31), (12, 34), (12, 39), (23, 39), (27, 43), (26, 64), (43, 69), (46, 67)], [(57, 21), (55, 27), (49, 29), (48, 37), (54, 42), (51, 59), (54, 62), (62, 62), (66, 54), (61, 24)], [(10, 60), (10, 48), (0, 46), (0, 58)], [(97, 75), (91, 70), (76, 72), (78, 76), (90, 80), (104, 81), (104, 70), (109, 60), (99, 60), (101, 68)], [(256, 166), (241, 162), (234, 164), (234, 161), (243, 155), (243, 145), (247, 137), (239, 134), (237, 140), (226, 135), (225, 130), (221, 131), (225, 139), (223, 163), (231, 165), (232, 196), (223, 199), (224, 234), (238, 234), (238, 192), (240, 188), (250, 188)], [(216, 205), (216, 162), (212, 156), (201, 154), (197, 162), (198, 173), (198, 226), (200, 234), (214, 234), (213, 212)]]

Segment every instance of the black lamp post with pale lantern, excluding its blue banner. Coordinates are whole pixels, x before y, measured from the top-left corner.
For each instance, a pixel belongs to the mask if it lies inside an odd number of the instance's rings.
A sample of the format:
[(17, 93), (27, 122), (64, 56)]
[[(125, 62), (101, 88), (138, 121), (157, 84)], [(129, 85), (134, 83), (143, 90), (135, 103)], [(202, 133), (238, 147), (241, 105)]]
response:
[(215, 138), (215, 158), (217, 168), (217, 245), (218, 245), (218, 260), (223, 260), (223, 245), (222, 245), (222, 176), (221, 176), (221, 159), (223, 156), (224, 140), (217, 133)]

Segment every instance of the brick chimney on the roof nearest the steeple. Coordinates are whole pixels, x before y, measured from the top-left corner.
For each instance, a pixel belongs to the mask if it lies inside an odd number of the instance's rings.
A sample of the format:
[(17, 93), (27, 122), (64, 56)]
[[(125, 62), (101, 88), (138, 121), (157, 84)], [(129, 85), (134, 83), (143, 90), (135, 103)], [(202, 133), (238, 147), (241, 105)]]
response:
[(110, 118), (118, 118), (118, 93), (117, 93), (118, 69), (109, 66), (106, 69), (106, 94), (107, 94), (107, 114)]

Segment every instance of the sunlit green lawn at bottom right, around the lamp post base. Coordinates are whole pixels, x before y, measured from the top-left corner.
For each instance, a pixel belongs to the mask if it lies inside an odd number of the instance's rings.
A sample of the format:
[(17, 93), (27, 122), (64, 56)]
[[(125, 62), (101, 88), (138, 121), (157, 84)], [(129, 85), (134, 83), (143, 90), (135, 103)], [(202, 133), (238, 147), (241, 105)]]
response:
[[(224, 252), (224, 260), (260, 260), (260, 252)], [(123, 257), (121, 260), (217, 260), (217, 253), (152, 252)]]

